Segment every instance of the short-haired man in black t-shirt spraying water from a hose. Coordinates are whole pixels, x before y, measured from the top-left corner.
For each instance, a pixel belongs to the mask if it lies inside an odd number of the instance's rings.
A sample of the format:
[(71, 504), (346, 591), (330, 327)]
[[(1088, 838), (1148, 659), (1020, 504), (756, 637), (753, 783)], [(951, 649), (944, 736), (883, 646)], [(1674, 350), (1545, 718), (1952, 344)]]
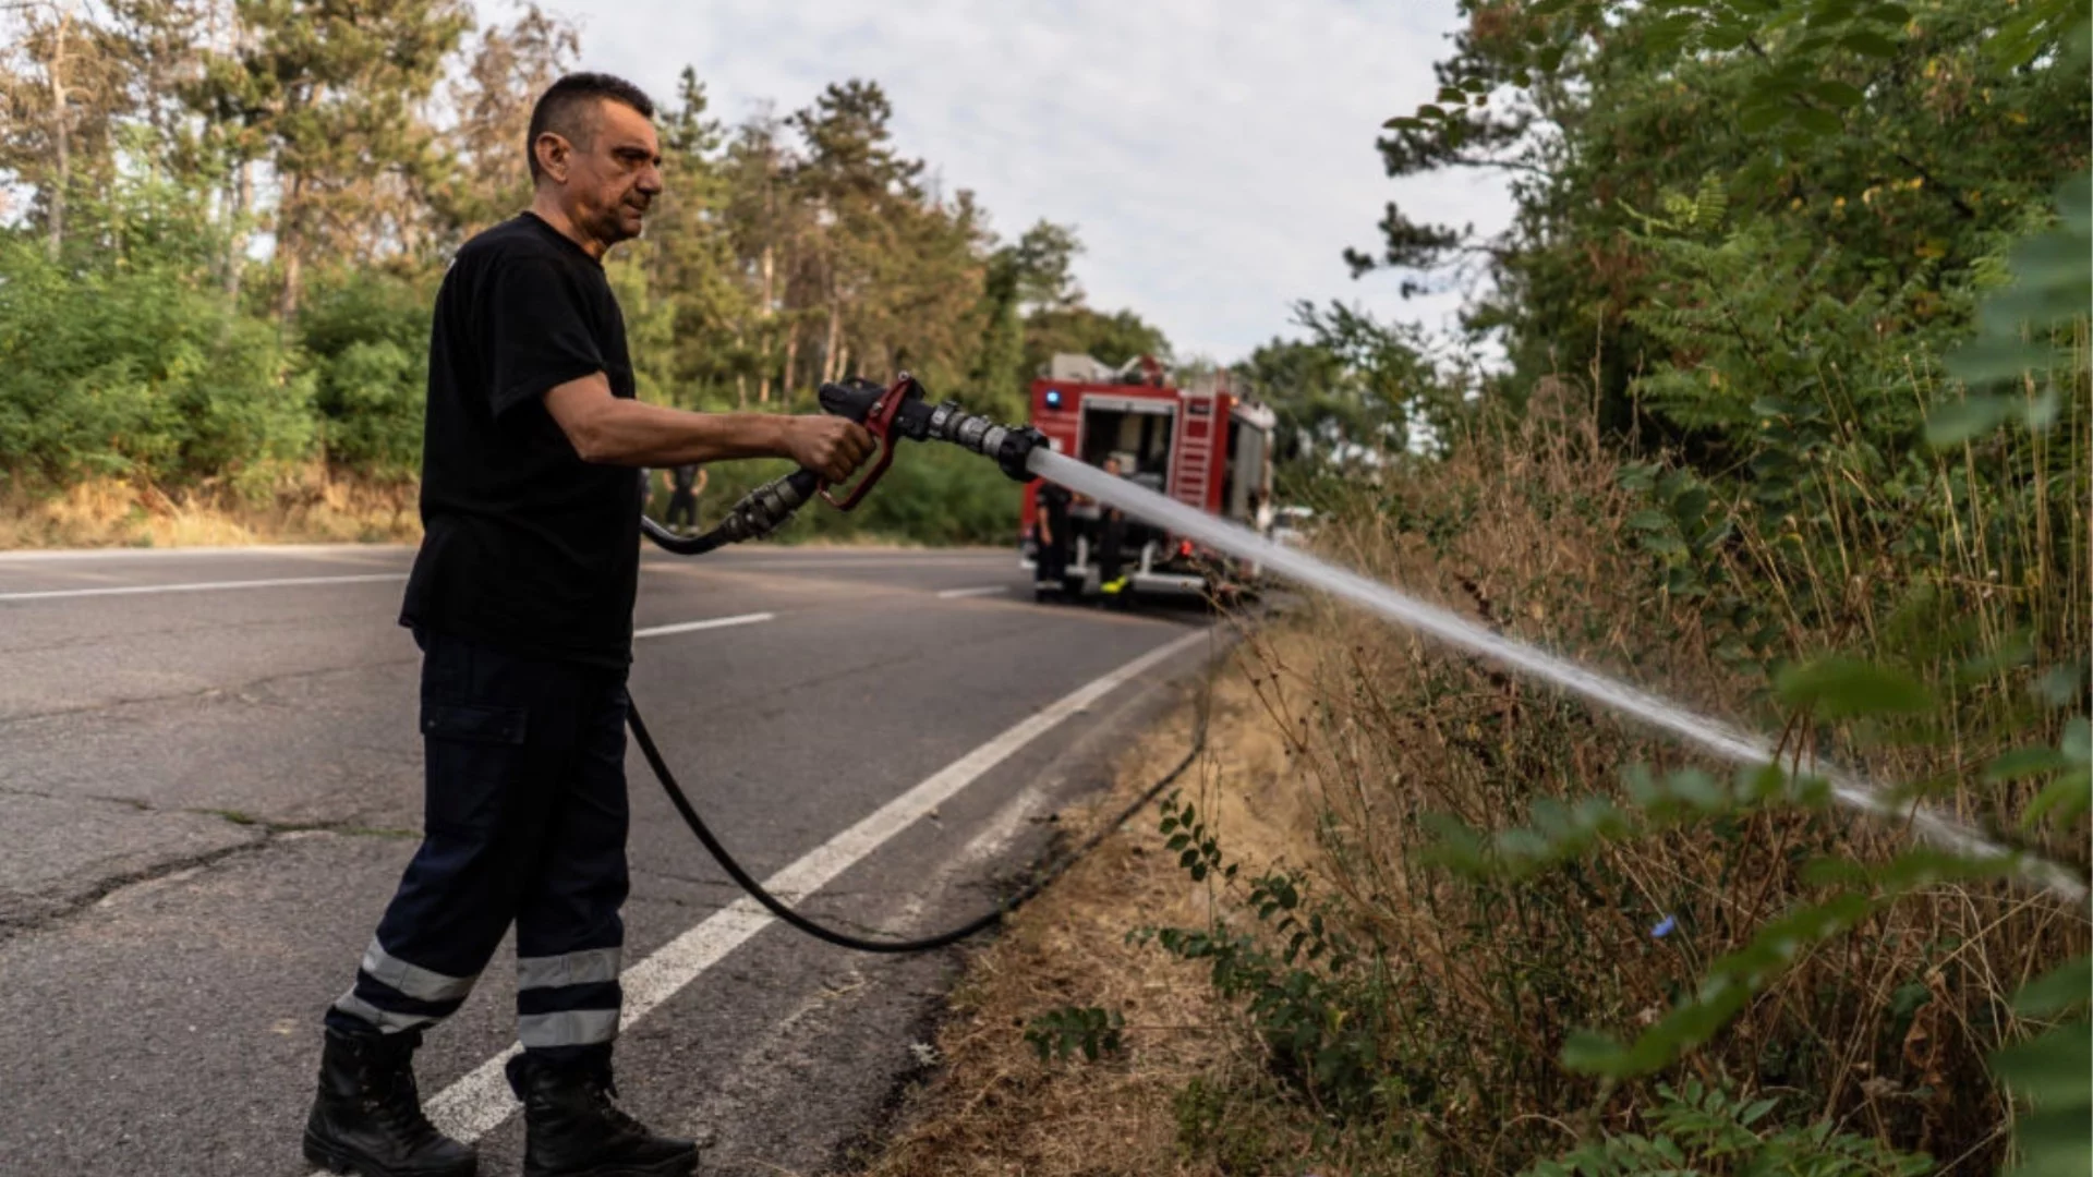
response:
[(697, 1148), (615, 1104), (624, 945), (634, 467), (783, 457), (841, 484), (873, 448), (837, 417), (699, 415), (634, 400), (603, 253), (661, 191), (653, 103), (576, 73), (532, 109), (530, 212), (458, 249), (435, 299), (425, 538), (400, 622), (423, 649), (423, 842), (354, 986), (324, 1018), (306, 1158), (364, 1177), (465, 1177), (423, 1114), (412, 1051), (517, 934), (530, 1177), (680, 1177)]

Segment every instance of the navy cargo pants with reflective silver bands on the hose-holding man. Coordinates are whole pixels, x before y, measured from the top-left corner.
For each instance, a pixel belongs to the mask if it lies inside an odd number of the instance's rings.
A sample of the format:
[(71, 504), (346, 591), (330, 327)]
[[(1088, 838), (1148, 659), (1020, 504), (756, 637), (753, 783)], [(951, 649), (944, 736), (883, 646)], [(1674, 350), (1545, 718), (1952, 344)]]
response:
[(450, 1016), (513, 921), (523, 1049), (607, 1060), (628, 890), (626, 672), (414, 637), (423, 840), (327, 1024), (400, 1032)]

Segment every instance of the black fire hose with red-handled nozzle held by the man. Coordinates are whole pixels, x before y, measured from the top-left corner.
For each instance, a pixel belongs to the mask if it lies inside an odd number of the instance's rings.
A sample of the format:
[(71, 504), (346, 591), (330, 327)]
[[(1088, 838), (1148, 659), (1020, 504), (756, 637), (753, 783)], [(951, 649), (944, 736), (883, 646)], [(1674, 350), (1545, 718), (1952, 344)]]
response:
[[(831, 505), (850, 511), (852, 507), (858, 505), (860, 498), (864, 498), (864, 492), (871, 490), (873, 484), (877, 484), (879, 478), (885, 473), (887, 463), (894, 461), (894, 442), (902, 438), (917, 442), (923, 440), (952, 442), (961, 448), (973, 450), (994, 461), (1003, 469), (1003, 473), (1019, 482), (1032, 480), (1032, 475), (1026, 471), (1026, 454), (1034, 446), (1044, 444), (1044, 438), (1038, 434), (1038, 429), (1030, 427), (1011, 429), (1007, 425), (996, 425), (986, 417), (975, 417), (971, 413), (961, 410), (961, 406), (954, 402), (944, 402), (938, 406), (925, 404), (923, 387), (908, 373), (902, 373), (900, 379), (890, 387), (856, 379), (846, 383), (827, 383), (820, 387), (820, 406), (837, 417), (850, 417), (852, 421), (858, 421), (860, 425), (871, 429), (875, 438), (879, 438), (881, 450), (877, 463), (873, 465), (871, 473), (862, 478), (858, 486), (846, 494), (846, 498), (841, 501), (831, 498), (829, 492), (823, 490), (820, 486), (820, 475), (816, 475), (810, 469), (797, 469), (793, 473), (766, 482), (764, 486), (758, 486), (756, 490), (747, 492), (739, 503), (733, 505), (733, 509), (728, 509), (726, 517), (716, 528), (712, 528), (701, 536), (678, 536), (676, 532), (655, 524), (645, 515), (640, 515), (640, 530), (647, 534), (649, 540), (653, 540), (663, 551), (676, 555), (705, 555), (707, 551), (714, 551), (724, 545), (768, 536), (781, 524), (791, 519), (793, 511), (797, 511), (802, 505), (806, 505), (808, 498), (814, 498), (816, 494), (829, 498)], [(1199, 758), (1199, 752), (1206, 750), (1206, 712), (1201, 710), (1199, 727), (1193, 733), (1191, 750), (1185, 752), (1185, 758), (1178, 760), (1174, 769), (1170, 769), (1168, 773), (1164, 773), (1162, 779), (1143, 790), (1141, 798), (1134, 800), (1130, 806), (1126, 806), (1116, 819), (1111, 819), (1109, 825), (1101, 827), (1097, 834), (1084, 840), (1082, 846), (1076, 846), (1074, 852), (1063, 854), (1055, 865), (1051, 865), (1044, 873), (1026, 884), (1017, 894), (1003, 901), (994, 911), (977, 919), (971, 919), (959, 928), (952, 928), (950, 932), (942, 932), (938, 936), (923, 936), (919, 940), (885, 940), (885, 938), (869, 940), (864, 936), (852, 936), (848, 932), (825, 928), (808, 919), (806, 915), (800, 915), (797, 911), (787, 907), (779, 896), (764, 890), (764, 884), (756, 882), (756, 878), (749, 875), (749, 871), (745, 871), (741, 863), (737, 863), (735, 857), (726, 852), (726, 846), (722, 846), (718, 836), (712, 834), (712, 827), (705, 825), (705, 819), (697, 815), (697, 808), (691, 804), (691, 798), (684, 796), (682, 785), (676, 783), (676, 773), (670, 771), (668, 760), (661, 758), (661, 750), (655, 746), (653, 735), (647, 733), (647, 723), (640, 718), (638, 708), (630, 706), (630, 697), (626, 710), (626, 725), (632, 729), (632, 739), (640, 746), (640, 756), (647, 758), (647, 767), (653, 769), (655, 779), (661, 781), (661, 792), (668, 794), (668, 802), (676, 806), (676, 813), (682, 815), (682, 823), (689, 825), (691, 834), (695, 834), (697, 840), (705, 844), (705, 850), (710, 850), (712, 857), (720, 863), (720, 867), (726, 869), (726, 875), (733, 878), (737, 884), (741, 884), (741, 890), (749, 892), (749, 896), (753, 896), (756, 903), (762, 903), (772, 915), (806, 932), (808, 936), (814, 936), (816, 940), (827, 940), (841, 949), (856, 949), (860, 953), (927, 953), (957, 945), (959, 940), (965, 940), (975, 932), (994, 928), (1011, 911), (1017, 911), (1017, 907), (1030, 903), (1034, 896), (1046, 890), (1046, 886), (1053, 884), (1057, 878), (1061, 878), (1072, 865), (1076, 865), (1078, 859), (1095, 850), (1099, 842), (1103, 842), (1122, 825), (1132, 821), (1136, 813), (1147, 808), (1149, 802), (1153, 802), (1166, 787), (1170, 787), (1178, 777), (1183, 777), (1185, 769), (1191, 769), (1193, 760)]]

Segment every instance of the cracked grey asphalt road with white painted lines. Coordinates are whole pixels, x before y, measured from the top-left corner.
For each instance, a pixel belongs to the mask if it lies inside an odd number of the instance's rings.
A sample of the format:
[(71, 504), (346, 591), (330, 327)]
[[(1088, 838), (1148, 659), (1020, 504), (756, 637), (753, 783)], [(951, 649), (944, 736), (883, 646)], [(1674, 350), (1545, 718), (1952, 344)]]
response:
[[(0, 553), (0, 1173), (308, 1173), (318, 1016), (419, 827), (408, 561)], [(992, 903), (1201, 662), (1193, 622), (1032, 605), (1007, 551), (649, 553), (632, 695), (758, 878), (931, 932)], [(831, 1169), (927, 1064), (959, 957), (751, 915), (636, 752), (628, 773), (626, 1104), (716, 1137), (707, 1173)], [(483, 1173), (521, 1164), (490, 1070), (507, 957), (419, 1058)]]

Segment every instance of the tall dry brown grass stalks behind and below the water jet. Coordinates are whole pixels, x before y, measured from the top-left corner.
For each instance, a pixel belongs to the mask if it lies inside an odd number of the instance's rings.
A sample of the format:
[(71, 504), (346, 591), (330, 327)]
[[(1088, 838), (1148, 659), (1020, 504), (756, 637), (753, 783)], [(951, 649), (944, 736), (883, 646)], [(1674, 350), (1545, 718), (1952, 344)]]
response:
[[(1961, 687), (1946, 733), (1773, 714), (1764, 681), (1714, 658), (1716, 635), (1693, 603), (1651, 588), (1647, 559), (1618, 540), (1639, 507), (1586, 421), (1534, 413), (1415, 471), (1323, 542), (1340, 561), (1492, 628), (1706, 714), (1792, 723), (1792, 735), (1806, 733), (1863, 775), (1932, 781), (1936, 804), (2011, 827), (2028, 794), (1986, 783), (1978, 769), (2009, 741), (2055, 739), (2062, 716), (2001, 706), (2026, 697), (2032, 672)], [(2051, 582), (2083, 588), (2083, 536), (2051, 551), (2076, 551), (2074, 565), (2049, 570)], [(1913, 576), (1882, 561), (1869, 572)], [(1838, 599), (1831, 576), (1787, 591)], [(1852, 637), (1792, 626), (1787, 649), (1817, 656), (1859, 643), (1865, 656), (1894, 660), (1894, 645), (1871, 641), (1867, 597), (1850, 599), (1863, 618)], [(2001, 612), (1993, 632), (2013, 628), (1997, 597), (1972, 609)], [(2087, 645), (2083, 614), (2064, 614), (2045, 660)], [(1882, 863), (1911, 844), (1903, 829), (1850, 813), (1758, 813), (1607, 844), (1576, 871), (1459, 882), (1423, 852), (1436, 840), (1427, 815), (1503, 829), (1524, 823), (1536, 798), (1618, 798), (1626, 764), (1666, 771), (1695, 758), (1350, 609), (1319, 607), (1302, 630), (1312, 635), (1306, 647), (1258, 647), (1260, 697), (1289, 737), (1296, 787), (1325, 815), (1316, 882), (1344, 898), (1360, 940), (1392, 953), (1396, 989), (1411, 995), (1394, 1001), (1386, 1058), (1453, 1087), (1390, 1108), (1434, 1139), (1417, 1171), (1509, 1171), (1568, 1143), (1572, 1125), (1633, 1129), (1649, 1089), (1566, 1074), (1566, 1037), (1582, 1026), (1633, 1037), (1656, 1022), (1710, 961), (1825, 894), (1804, 882), (1808, 861)], [(1957, 691), (1946, 679), (1936, 689)], [(2049, 848), (2076, 861), (2083, 840), (2053, 836)], [(1653, 940), (1666, 915), (1679, 915), (1681, 932)], [(1959, 1162), (1955, 1173), (1988, 1171), (2009, 1110), (1984, 1058), (2026, 1032), (2009, 997), (2087, 940), (2085, 911), (2045, 896), (2005, 884), (1921, 888), (1850, 936), (1806, 949), (1681, 1066), (1746, 1097), (1777, 1095), (1787, 1116), (1928, 1150)]]

